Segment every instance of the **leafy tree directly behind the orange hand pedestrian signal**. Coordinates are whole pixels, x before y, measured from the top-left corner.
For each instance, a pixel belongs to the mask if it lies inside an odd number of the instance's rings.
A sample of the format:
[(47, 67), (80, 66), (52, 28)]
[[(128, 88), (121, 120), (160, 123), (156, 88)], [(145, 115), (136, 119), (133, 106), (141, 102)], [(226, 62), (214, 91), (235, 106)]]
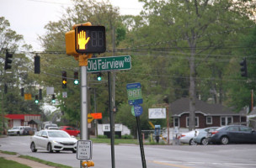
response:
[[(58, 94), (59, 100), (58, 108), (64, 113), (66, 118), (69, 118), (70, 123), (80, 121), (80, 90), (79, 87), (74, 87), (72, 84), (73, 71), (78, 70), (78, 62), (72, 56), (65, 55), (65, 33), (72, 29), (74, 24), (83, 24), (91, 22), (93, 25), (104, 25), (106, 28), (107, 48), (113, 49), (114, 45), (119, 45), (120, 41), (124, 39), (124, 28), (119, 21), (120, 15), (118, 8), (114, 8), (109, 3), (95, 3), (94, 1), (84, 2), (83, 0), (74, 0), (74, 5), (67, 8), (63, 13), (60, 21), (50, 22), (45, 25), (46, 34), (40, 37), (40, 41), (45, 48), (47, 54), (41, 59), (42, 71), (44, 74), (51, 74), (40, 76), (40, 85), (51, 85), (55, 87), (55, 92)], [(113, 32), (115, 29), (115, 32)], [(57, 51), (58, 55), (52, 55), (53, 51)], [(49, 54), (50, 53), (50, 54)], [(111, 55), (107, 52), (101, 56)], [(97, 55), (95, 55), (97, 56)], [(58, 66), (56, 66), (58, 65)], [(64, 92), (60, 87), (61, 71), (67, 71), (67, 98), (61, 97), (61, 92)], [(97, 90), (97, 107), (104, 113), (104, 117), (108, 112), (108, 89), (105, 74), (103, 74), (103, 81), (99, 83), (94, 80), (93, 74), (88, 75), (88, 86)], [(90, 93), (90, 92), (88, 92)], [(88, 101), (91, 98), (88, 97)], [(71, 103), (72, 102), (72, 103)], [(93, 101), (91, 101), (94, 103)], [(93, 112), (94, 106), (88, 108), (89, 112)], [(78, 124), (78, 123), (77, 123)]]

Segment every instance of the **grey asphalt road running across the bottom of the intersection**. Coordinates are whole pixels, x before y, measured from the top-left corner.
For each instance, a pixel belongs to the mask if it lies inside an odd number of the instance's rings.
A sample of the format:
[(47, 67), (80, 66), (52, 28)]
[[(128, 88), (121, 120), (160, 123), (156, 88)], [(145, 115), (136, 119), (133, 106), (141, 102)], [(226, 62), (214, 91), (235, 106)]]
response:
[[(80, 167), (77, 155), (72, 152), (48, 153), (40, 150), (32, 153), (29, 149), (29, 136), (0, 138), (0, 150), (30, 155), (41, 160)], [(256, 167), (256, 144), (228, 145), (144, 145), (147, 168), (254, 168)], [(109, 144), (93, 144), (94, 167), (110, 168), (111, 151)], [(139, 168), (141, 152), (139, 145), (115, 145), (116, 168)]]

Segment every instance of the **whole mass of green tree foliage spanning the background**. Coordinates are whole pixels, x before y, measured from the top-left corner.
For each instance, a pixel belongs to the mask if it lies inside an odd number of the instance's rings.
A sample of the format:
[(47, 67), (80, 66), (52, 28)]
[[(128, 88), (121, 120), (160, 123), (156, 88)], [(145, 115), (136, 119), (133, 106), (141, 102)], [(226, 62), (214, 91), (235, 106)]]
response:
[[(118, 109), (115, 123), (125, 124), (135, 137), (136, 118), (128, 105), (128, 83), (141, 83), (141, 129), (152, 129), (148, 123), (148, 108), (162, 104), (165, 96), (173, 102), (195, 93), (194, 97), (229, 105), (237, 111), (248, 105), (256, 74), (253, 66), (256, 30), (250, 19), (253, 15), (248, 12), (254, 9), (253, 5), (245, 1), (234, 4), (228, 0), (141, 0), (144, 7), (139, 16), (121, 16), (119, 9), (109, 2), (73, 2), (73, 6), (63, 11), (59, 21), (45, 25), (46, 33), (39, 37), (45, 48), (45, 54), (40, 54), (40, 75), (32, 71), (33, 57), (24, 54), (14, 55), (12, 75), (0, 73), (1, 80), (8, 83), (9, 92), (3, 97), (5, 113), (40, 113), (45, 119), (62, 113), (61, 123), (80, 126), (81, 82), (77, 86), (73, 84), (73, 72), (79, 67), (77, 60), (65, 54), (65, 33), (74, 24), (85, 22), (106, 27), (107, 52), (101, 57), (131, 55), (131, 70), (115, 72), (115, 106)], [(8, 39), (0, 42), (10, 51), (18, 50), (17, 42), (23, 39), (9, 29), (3, 17), (0, 18), (0, 37), (0, 40)], [(29, 45), (24, 48), (29, 50)], [(4, 50), (0, 54), (3, 58)], [(239, 76), (238, 63), (244, 56), (248, 57), (250, 82)], [(67, 71), (67, 89), (61, 88), (61, 71)], [(88, 74), (88, 111), (103, 113), (101, 123), (109, 123), (107, 79), (106, 72), (103, 72), (102, 81), (96, 81), (95, 74)], [(19, 87), (23, 86), (33, 97), (40, 86), (44, 100), (39, 105), (34, 100), (24, 101), (19, 96)], [(52, 105), (57, 109), (54, 113), (43, 113), (41, 109), (43, 102), (51, 102), (51, 96), (45, 94), (46, 87), (55, 88), (56, 104)], [(67, 92), (67, 97), (63, 98), (62, 92)], [(152, 120), (152, 123), (167, 125), (165, 119)]]

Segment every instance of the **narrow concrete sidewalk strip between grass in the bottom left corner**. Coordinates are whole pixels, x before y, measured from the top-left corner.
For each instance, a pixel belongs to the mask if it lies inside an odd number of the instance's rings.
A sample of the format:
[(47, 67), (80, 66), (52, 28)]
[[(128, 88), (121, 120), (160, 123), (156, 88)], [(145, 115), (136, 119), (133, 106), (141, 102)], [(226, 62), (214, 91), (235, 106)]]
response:
[(13, 161), (19, 162), (20, 164), (23, 164), (23, 165), (28, 165), (32, 168), (53, 168), (52, 166), (41, 164), (33, 160), (19, 158), (19, 155), (8, 155), (0, 152), (0, 157), (3, 157), (6, 160), (13, 160)]

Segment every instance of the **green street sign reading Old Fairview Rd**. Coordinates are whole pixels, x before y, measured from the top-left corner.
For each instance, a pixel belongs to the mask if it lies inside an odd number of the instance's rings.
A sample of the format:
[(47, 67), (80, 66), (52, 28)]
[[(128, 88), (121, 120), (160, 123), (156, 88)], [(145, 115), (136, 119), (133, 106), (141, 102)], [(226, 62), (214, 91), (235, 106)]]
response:
[(88, 59), (88, 72), (119, 71), (131, 69), (131, 56), (110, 56)]

